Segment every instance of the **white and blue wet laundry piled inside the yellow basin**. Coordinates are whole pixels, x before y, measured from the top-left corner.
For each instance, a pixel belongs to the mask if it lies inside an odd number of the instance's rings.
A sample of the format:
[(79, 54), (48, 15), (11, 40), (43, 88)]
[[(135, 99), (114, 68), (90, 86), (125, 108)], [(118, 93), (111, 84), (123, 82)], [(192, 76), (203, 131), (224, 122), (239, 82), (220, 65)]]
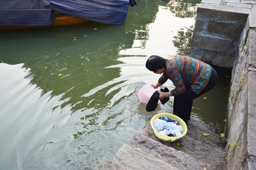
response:
[(164, 119), (156, 119), (154, 121), (154, 127), (155, 130), (165, 136), (181, 136), (183, 132), (183, 127), (181, 125), (177, 125), (174, 122), (166, 122)]

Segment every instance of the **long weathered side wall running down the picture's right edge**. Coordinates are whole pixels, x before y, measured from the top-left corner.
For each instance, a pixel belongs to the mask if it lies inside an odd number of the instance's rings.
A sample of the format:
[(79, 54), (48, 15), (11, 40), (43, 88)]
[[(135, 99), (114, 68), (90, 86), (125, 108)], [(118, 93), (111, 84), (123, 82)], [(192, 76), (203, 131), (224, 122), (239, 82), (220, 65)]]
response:
[(240, 50), (232, 71), (228, 141), (230, 145), (234, 141), (236, 149), (227, 145), (228, 170), (256, 169), (256, 27), (250, 21), (240, 39), (240, 47), (246, 42), (247, 50)]

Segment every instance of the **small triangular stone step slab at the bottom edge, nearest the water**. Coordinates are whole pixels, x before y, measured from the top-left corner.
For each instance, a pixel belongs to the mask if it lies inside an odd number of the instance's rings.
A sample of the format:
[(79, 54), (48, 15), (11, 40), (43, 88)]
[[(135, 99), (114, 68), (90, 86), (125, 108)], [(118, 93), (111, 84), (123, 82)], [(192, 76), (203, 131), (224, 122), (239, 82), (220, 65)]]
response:
[(132, 170), (120, 165), (117, 162), (103, 158), (94, 170)]

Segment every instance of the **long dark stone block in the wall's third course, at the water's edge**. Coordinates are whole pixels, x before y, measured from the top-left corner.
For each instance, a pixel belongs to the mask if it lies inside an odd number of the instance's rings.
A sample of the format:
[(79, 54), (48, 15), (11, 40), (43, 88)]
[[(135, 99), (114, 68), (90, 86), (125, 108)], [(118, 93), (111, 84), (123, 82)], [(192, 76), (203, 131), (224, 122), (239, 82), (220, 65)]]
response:
[(232, 40), (202, 34), (193, 34), (191, 47), (198, 47), (201, 50), (225, 53), (230, 51)]

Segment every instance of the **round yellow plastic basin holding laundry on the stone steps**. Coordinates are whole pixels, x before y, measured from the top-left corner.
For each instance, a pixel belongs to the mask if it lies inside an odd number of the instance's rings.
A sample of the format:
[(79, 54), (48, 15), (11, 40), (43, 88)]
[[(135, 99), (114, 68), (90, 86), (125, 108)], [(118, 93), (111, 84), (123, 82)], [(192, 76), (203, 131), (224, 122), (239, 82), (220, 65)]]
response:
[[(156, 119), (158, 119), (159, 117), (162, 117), (162, 116), (168, 116), (171, 119), (178, 120), (180, 125), (183, 127), (182, 135), (181, 136), (176, 136), (176, 137), (170, 137), (170, 136), (162, 135), (157, 130), (155, 130), (154, 121)], [(179, 138), (185, 136), (187, 131), (188, 131), (188, 127), (187, 127), (186, 123), (183, 121), (183, 119), (181, 119), (178, 116), (176, 116), (174, 114), (171, 114), (171, 113), (158, 113), (158, 114), (156, 114), (150, 120), (150, 125), (153, 128), (153, 130), (154, 130), (155, 136), (158, 137), (160, 140), (165, 141), (165, 142), (174, 142), (174, 141), (178, 140)]]

